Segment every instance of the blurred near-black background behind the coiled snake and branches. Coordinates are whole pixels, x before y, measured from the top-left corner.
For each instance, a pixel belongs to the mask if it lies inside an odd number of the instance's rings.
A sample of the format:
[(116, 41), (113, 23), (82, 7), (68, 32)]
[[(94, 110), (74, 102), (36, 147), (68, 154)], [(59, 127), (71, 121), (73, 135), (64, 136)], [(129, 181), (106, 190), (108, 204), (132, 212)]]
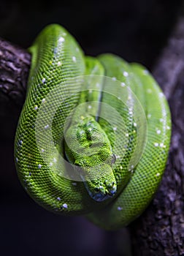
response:
[[(0, 1), (0, 37), (28, 48), (42, 28), (59, 23), (85, 54), (115, 53), (151, 69), (180, 5), (168, 0)], [(57, 216), (26, 195), (13, 162), (18, 120), (13, 115), (0, 122), (0, 255), (103, 256), (124, 255), (126, 250), (129, 255), (124, 230), (107, 232), (83, 217)]]

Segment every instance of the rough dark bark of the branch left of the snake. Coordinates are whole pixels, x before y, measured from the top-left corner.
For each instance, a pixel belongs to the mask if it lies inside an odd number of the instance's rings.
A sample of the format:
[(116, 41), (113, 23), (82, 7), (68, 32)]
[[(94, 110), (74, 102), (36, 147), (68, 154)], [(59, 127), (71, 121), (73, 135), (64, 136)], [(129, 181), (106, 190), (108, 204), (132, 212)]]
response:
[(0, 38), (0, 100), (22, 107), (26, 95), (30, 54)]

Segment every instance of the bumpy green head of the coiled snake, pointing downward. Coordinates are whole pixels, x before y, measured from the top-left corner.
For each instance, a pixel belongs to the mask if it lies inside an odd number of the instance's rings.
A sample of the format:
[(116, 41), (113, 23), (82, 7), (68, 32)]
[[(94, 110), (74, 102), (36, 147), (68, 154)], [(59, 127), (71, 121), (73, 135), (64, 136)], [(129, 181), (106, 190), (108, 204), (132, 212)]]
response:
[[(74, 148), (75, 132), (83, 152), (80, 151), (80, 148), (76, 148), (76, 151), (71, 149)], [(66, 131), (65, 138), (70, 139), (72, 143), (70, 148), (65, 143), (66, 158), (74, 165), (83, 167), (85, 173), (82, 173), (81, 176), (88, 194), (93, 200), (101, 202), (115, 195), (116, 180), (112, 170), (113, 155), (110, 140), (95, 119), (92, 116), (83, 117), (80, 121), (74, 119)], [(81, 153), (90, 154), (84, 157)], [(94, 166), (94, 163), (97, 167)], [(96, 179), (96, 172), (99, 171), (99, 168), (104, 175)], [(85, 181), (86, 176), (88, 176), (87, 181)]]

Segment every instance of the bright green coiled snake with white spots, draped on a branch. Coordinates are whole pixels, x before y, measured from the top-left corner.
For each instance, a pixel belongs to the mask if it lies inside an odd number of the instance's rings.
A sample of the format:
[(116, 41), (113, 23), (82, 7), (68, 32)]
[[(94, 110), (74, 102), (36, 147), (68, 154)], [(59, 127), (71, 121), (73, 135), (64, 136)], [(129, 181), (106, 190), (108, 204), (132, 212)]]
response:
[(51, 24), (28, 49), (31, 69), (15, 135), (26, 192), (47, 210), (113, 230), (153, 199), (171, 135), (169, 106), (150, 72), (107, 53), (85, 56)]

